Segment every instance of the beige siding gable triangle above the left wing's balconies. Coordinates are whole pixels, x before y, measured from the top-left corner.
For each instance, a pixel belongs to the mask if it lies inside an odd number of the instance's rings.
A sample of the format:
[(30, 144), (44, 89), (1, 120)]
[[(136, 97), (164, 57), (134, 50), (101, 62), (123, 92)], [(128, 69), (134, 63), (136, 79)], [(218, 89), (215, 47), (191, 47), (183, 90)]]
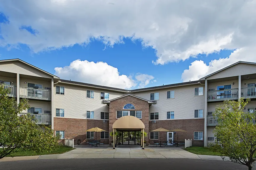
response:
[(44, 73), (20, 61), (2, 62), (0, 63), (0, 71), (20, 73), (37, 77), (52, 78), (51, 75)]

